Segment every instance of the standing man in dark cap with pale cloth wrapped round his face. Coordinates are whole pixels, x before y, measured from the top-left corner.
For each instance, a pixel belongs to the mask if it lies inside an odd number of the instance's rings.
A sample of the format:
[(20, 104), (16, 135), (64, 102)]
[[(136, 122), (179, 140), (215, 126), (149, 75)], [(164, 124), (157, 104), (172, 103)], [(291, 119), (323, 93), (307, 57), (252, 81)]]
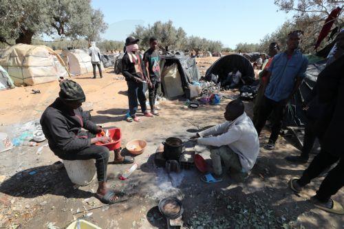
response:
[(153, 117), (147, 111), (146, 96), (143, 92), (143, 84), (149, 83), (150, 80), (144, 74), (144, 63), (138, 50), (138, 41), (133, 36), (125, 39), (125, 55), (122, 58), (122, 74), (128, 85), (129, 113), (127, 114), (127, 122), (140, 122), (136, 116), (138, 110), (138, 102), (140, 102), (141, 111), (146, 117)]

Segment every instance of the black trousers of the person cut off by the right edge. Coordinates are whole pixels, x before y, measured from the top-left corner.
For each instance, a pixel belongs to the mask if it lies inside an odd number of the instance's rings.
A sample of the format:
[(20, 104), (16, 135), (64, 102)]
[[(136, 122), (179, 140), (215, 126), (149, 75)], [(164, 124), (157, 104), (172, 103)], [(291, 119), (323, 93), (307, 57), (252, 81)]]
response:
[[(339, 162), (338, 162), (339, 160)], [(326, 202), (330, 197), (338, 192), (344, 186), (344, 160), (335, 157), (323, 150), (314, 157), (310, 166), (303, 172), (302, 177), (297, 181), (300, 186), (309, 184), (312, 179), (318, 177), (326, 168), (338, 162), (336, 167), (327, 173), (327, 176), (321, 183), (319, 190), (316, 191), (316, 198), (319, 201)]]

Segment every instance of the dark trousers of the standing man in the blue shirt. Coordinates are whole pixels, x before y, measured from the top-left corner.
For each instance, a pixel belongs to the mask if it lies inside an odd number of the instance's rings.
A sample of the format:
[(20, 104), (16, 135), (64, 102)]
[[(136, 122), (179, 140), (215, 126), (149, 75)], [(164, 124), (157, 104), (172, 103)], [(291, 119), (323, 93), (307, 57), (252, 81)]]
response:
[(263, 100), (261, 100), (261, 106), (259, 106), (257, 122), (255, 123), (255, 128), (257, 130), (258, 135), (260, 134), (261, 129), (263, 129), (266, 120), (273, 112), (270, 141), (276, 142), (279, 136), (279, 131), (281, 131), (285, 108), (285, 100), (276, 102), (264, 96)]

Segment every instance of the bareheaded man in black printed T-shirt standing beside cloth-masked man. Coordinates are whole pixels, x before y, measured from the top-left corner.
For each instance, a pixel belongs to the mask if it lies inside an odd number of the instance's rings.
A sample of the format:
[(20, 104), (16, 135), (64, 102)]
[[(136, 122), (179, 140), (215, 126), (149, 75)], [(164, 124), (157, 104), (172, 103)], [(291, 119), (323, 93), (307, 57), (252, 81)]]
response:
[(158, 47), (158, 39), (155, 37), (151, 37), (149, 39), (149, 50), (144, 52), (143, 54), (143, 61), (144, 66), (146, 67), (147, 78), (149, 78), (149, 105), (151, 106), (151, 113), (153, 115), (158, 116), (159, 113), (157, 111), (157, 107), (155, 106), (155, 99), (158, 92), (158, 88), (160, 87), (160, 54), (156, 50)]

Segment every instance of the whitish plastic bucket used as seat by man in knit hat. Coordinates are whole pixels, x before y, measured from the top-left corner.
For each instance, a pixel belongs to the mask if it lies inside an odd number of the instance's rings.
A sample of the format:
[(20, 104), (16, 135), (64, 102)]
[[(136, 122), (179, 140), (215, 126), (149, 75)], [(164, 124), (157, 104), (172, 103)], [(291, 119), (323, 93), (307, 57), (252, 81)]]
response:
[(86, 186), (96, 177), (94, 160), (63, 160), (69, 179), (77, 185)]

